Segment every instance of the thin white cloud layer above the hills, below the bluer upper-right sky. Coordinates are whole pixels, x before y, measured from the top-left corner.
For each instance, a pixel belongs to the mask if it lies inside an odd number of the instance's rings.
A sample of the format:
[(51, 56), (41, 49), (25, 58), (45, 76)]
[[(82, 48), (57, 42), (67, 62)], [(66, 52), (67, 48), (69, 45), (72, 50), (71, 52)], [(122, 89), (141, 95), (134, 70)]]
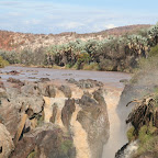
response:
[(27, 33), (90, 33), (127, 24), (156, 23), (157, 14), (117, 12), (50, 0), (0, 1), (0, 29)]

